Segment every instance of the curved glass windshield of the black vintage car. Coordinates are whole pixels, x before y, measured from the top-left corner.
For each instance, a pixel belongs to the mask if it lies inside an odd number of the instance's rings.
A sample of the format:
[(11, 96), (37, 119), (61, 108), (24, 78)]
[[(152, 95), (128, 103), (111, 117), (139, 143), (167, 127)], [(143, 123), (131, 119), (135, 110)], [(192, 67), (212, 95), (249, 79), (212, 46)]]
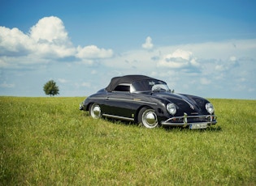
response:
[(156, 79), (132, 83), (133, 91), (170, 91), (165, 82)]

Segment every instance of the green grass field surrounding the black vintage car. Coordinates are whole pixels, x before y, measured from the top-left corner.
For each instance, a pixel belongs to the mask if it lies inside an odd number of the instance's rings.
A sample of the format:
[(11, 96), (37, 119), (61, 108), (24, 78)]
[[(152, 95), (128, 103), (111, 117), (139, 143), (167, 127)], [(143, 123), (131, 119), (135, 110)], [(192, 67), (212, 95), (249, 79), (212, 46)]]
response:
[(256, 100), (210, 129), (93, 120), (84, 98), (0, 97), (0, 185), (256, 185)]

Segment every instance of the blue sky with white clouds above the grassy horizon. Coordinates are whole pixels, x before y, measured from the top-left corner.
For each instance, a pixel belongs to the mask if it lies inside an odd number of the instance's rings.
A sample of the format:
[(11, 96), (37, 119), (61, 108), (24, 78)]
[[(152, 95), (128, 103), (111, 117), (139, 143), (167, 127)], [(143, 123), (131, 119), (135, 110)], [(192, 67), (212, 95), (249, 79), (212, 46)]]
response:
[(88, 96), (143, 74), (177, 93), (256, 99), (254, 0), (0, 0), (0, 95)]

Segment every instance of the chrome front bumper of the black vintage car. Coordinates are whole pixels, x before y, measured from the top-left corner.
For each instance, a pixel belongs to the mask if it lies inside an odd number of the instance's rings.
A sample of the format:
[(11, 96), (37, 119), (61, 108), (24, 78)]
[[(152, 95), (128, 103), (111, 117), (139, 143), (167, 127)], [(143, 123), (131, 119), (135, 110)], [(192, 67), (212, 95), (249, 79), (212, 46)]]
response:
[(182, 126), (186, 127), (189, 125), (204, 125), (210, 126), (217, 123), (217, 116), (215, 115), (201, 115), (201, 116), (188, 116), (184, 113), (184, 116), (173, 116), (168, 120), (163, 120), (162, 125), (166, 126)]

